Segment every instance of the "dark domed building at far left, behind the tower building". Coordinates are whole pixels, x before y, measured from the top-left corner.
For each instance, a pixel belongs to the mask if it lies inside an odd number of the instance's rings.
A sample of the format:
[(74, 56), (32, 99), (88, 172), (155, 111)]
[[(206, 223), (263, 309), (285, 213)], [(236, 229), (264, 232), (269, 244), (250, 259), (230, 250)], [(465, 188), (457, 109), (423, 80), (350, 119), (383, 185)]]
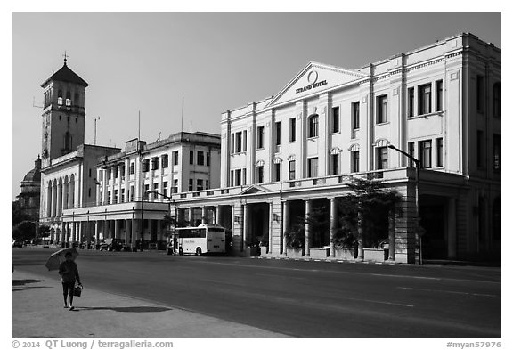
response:
[(41, 195), (41, 159), (37, 157), (34, 168), (21, 182), (21, 192), (16, 198), (20, 202), (21, 214), (28, 220), (39, 220), (39, 199)]

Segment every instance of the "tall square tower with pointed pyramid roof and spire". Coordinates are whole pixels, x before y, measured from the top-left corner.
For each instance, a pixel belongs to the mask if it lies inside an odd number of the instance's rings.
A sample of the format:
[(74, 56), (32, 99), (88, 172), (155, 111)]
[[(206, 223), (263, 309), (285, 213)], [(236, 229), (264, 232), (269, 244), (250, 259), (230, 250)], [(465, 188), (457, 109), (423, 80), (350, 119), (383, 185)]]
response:
[(41, 85), (44, 92), (42, 167), (75, 151), (85, 138), (85, 87), (88, 84), (64, 65)]

